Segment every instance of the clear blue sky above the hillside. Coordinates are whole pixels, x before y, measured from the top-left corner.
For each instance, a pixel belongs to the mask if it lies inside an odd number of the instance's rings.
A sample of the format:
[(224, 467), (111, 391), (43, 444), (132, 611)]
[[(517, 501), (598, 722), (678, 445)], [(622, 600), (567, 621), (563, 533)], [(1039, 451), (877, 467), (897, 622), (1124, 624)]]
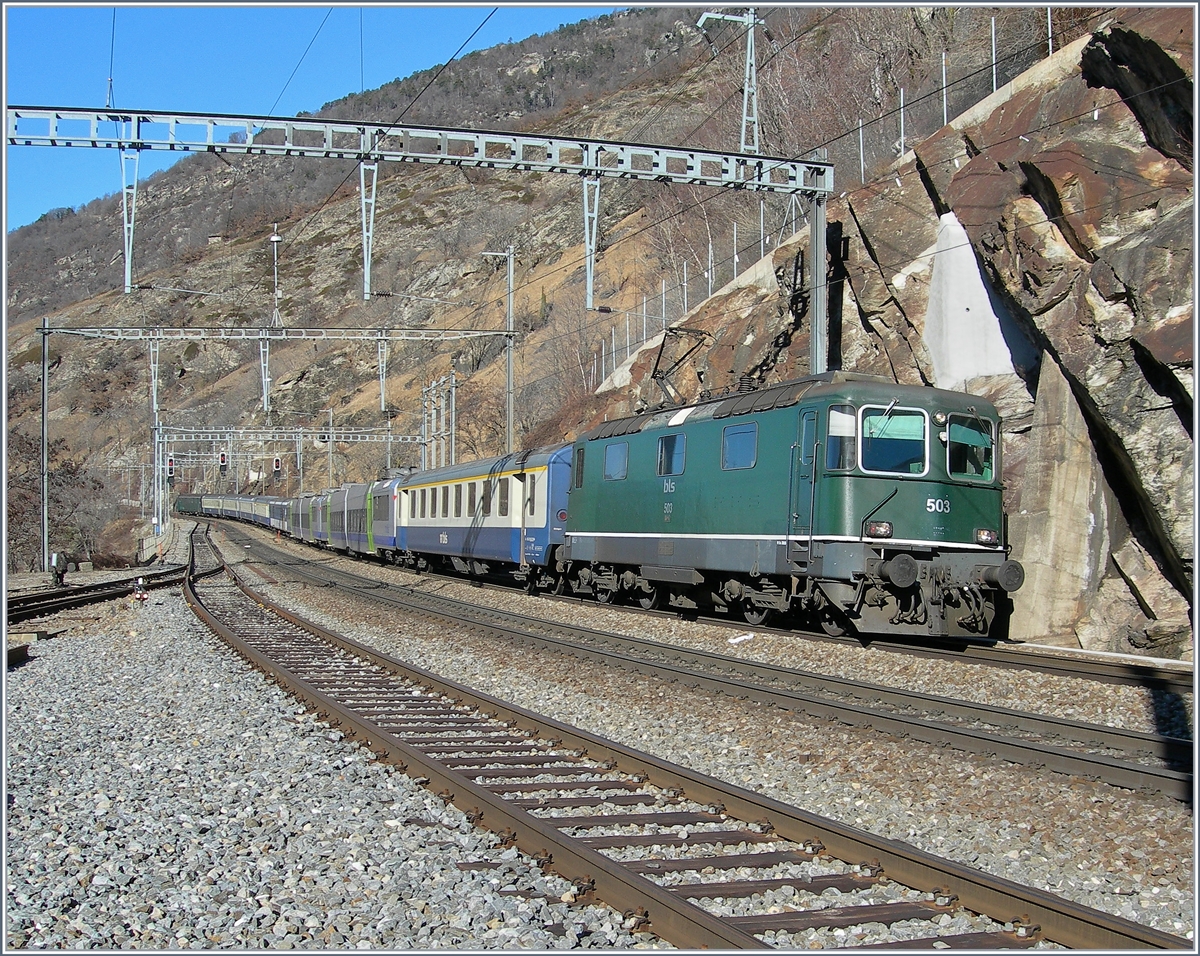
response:
[[(617, 8), (503, 5), (463, 54)], [(118, 108), (294, 115), (445, 62), (493, 7), (137, 5), (115, 8), (115, 31), (113, 10), (6, 4), (5, 103), (101, 108), (112, 76)], [(6, 233), (120, 191), (110, 150), (5, 154)], [(178, 158), (148, 150), (139, 179)]]

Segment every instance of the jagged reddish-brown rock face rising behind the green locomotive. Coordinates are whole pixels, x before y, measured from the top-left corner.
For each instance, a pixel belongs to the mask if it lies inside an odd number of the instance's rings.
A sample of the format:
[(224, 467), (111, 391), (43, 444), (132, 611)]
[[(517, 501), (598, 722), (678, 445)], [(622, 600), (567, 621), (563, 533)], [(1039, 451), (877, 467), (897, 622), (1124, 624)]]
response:
[[(1193, 16), (1106, 24), (828, 208), (830, 367), (1004, 415), (1021, 639), (1192, 656)], [(808, 372), (806, 253), (685, 317), (685, 397)]]

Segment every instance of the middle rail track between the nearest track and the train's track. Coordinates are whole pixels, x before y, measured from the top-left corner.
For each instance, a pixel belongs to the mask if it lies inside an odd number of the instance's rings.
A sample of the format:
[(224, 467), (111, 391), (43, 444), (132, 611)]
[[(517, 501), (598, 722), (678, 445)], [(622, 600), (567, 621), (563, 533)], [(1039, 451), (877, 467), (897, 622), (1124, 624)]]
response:
[[(1158, 790), (1178, 800), (1192, 796), (1190, 740), (830, 678), (520, 617), (424, 590), (383, 584), (324, 563), (296, 561), (241, 534), (235, 539), (258, 560), (286, 565), (289, 573), (313, 583), (337, 584), (356, 596), (452, 621), (499, 639), (584, 656), (608, 667), (653, 674), (812, 717), (869, 726), (936, 746), (949, 745), (1027, 766), (1045, 766), (1127, 789)], [(251, 543), (245, 545), (247, 541)]]

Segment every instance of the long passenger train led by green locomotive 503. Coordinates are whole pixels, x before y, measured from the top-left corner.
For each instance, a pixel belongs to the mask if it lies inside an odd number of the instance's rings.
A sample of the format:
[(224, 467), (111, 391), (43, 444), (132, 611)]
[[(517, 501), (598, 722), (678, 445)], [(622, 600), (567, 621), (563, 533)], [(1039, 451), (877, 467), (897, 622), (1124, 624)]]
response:
[(1000, 428), (979, 396), (835, 371), (520, 453), (290, 499), (186, 495), (176, 510), (602, 603), (997, 638), (1025, 581)]

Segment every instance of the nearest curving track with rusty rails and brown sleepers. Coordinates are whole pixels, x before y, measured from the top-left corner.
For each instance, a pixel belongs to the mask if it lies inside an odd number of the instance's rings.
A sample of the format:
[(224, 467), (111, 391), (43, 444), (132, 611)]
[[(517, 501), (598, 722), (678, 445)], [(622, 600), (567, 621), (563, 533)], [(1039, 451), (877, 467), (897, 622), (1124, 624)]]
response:
[[(571, 879), (581, 901), (676, 945), (762, 949), (800, 931), (902, 922), (910, 948), (1190, 946), (475, 693), (275, 608), (233, 575), (185, 593), (324, 718)], [(828, 907), (830, 889), (848, 904)], [(781, 890), (786, 904), (769, 904)], [(740, 912), (719, 915), (714, 900)], [(947, 914), (972, 930), (940, 936)]]

